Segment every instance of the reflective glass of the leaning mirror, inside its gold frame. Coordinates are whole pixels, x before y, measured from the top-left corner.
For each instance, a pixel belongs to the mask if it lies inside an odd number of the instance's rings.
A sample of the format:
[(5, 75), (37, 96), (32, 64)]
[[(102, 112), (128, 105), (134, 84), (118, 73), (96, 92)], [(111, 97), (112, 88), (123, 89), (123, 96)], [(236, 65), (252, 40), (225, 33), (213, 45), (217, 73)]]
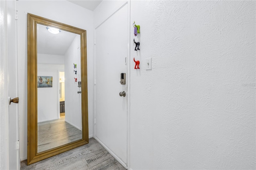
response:
[(37, 24), (38, 153), (82, 139), (80, 61), (80, 35)]

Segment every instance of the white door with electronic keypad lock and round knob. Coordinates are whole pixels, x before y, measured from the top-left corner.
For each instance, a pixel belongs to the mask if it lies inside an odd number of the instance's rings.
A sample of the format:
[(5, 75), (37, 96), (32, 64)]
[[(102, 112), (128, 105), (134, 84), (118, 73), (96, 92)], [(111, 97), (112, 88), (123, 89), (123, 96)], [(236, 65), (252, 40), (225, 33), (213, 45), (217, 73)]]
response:
[[(96, 28), (95, 137), (123, 165), (127, 166), (127, 65), (126, 4)], [(120, 74), (126, 73), (126, 84)]]

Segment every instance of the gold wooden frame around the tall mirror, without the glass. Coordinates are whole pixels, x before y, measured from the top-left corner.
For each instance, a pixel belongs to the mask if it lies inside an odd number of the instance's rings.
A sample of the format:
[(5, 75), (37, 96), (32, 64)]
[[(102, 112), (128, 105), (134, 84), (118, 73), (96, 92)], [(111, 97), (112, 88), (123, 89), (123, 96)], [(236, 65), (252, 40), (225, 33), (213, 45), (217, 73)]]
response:
[[(60, 30), (80, 35), (81, 49), (81, 99), (82, 99), (82, 139), (56, 148), (37, 152), (37, 24), (52, 26)], [(84, 89), (84, 90), (83, 90)], [(87, 97), (87, 47), (86, 30), (62, 24), (28, 13), (28, 158), (27, 165), (82, 146), (89, 142), (88, 97)]]

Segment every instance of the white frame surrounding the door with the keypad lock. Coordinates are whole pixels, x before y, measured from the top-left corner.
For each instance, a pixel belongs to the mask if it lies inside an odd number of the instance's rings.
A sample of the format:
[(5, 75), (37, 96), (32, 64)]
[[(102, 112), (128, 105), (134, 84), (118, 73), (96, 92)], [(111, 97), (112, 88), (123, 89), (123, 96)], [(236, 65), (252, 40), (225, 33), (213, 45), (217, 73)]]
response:
[(96, 123), (95, 123), (95, 118), (96, 118), (96, 29), (101, 26), (104, 22), (106, 22), (106, 20), (108, 20), (112, 15), (114, 15), (116, 12), (118, 12), (118, 10), (120, 10), (121, 8), (123, 8), (125, 5), (127, 5), (127, 58), (126, 58), (126, 64), (127, 64), (127, 77), (126, 77), (126, 83), (127, 83), (127, 92), (126, 92), (126, 96), (127, 96), (127, 113), (126, 113), (126, 117), (127, 117), (127, 123), (126, 123), (126, 127), (127, 127), (127, 165), (123, 164), (123, 162), (121, 160), (119, 160), (116, 155), (114, 153), (111, 152), (111, 150), (109, 150), (103, 143), (102, 146), (116, 159), (118, 160), (118, 162), (120, 164), (122, 164), (122, 166), (124, 166), (126, 169), (130, 168), (130, 65), (131, 65), (131, 61), (130, 61), (130, 32), (131, 32), (131, 26), (132, 23), (130, 21), (130, 0), (125, 1), (121, 6), (119, 6), (119, 8), (117, 8), (116, 10), (114, 10), (114, 12), (112, 12), (112, 14), (110, 14), (109, 16), (106, 17), (106, 19), (101, 22), (100, 24), (98, 24), (98, 26), (95, 26), (94, 28), (94, 58), (93, 58), (93, 78), (94, 78), (94, 86), (93, 86), (93, 120), (94, 120), (94, 125), (93, 125), (93, 137), (96, 138)]

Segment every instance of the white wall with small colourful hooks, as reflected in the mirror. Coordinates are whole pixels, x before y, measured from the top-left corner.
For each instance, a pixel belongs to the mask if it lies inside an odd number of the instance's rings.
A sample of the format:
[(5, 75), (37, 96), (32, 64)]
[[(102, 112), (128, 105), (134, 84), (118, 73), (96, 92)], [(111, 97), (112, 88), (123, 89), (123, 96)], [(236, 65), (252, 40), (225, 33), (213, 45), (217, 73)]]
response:
[[(80, 51), (79, 35), (65, 53), (65, 121), (82, 130), (81, 93), (77, 93), (81, 90), (78, 87), (78, 81), (81, 81), (81, 57), (78, 50)], [(74, 70), (77, 71), (76, 74)]]

